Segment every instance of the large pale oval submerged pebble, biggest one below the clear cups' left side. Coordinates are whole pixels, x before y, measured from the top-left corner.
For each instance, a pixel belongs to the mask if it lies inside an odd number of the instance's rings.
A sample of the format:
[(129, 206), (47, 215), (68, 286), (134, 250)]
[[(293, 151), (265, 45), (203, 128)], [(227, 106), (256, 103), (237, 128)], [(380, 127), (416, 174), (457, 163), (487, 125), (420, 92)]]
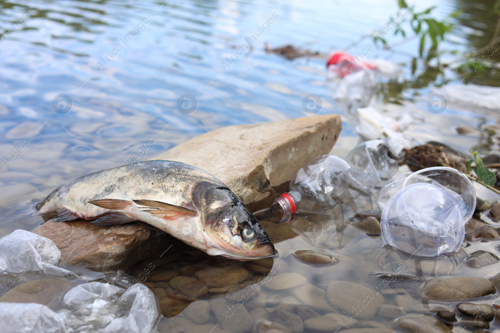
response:
[(373, 317), (378, 307), (384, 303), (383, 296), (372, 289), (347, 281), (331, 282), (326, 299), (334, 307), (357, 319)]

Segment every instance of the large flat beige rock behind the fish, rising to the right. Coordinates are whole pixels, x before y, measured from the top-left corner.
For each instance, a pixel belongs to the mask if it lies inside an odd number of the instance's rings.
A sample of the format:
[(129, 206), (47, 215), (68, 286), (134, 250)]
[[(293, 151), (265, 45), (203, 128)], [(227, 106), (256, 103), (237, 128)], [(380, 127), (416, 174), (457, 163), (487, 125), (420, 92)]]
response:
[(268, 207), (297, 170), (327, 154), (342, 127), (327, 114), (216, 129), (151, 158), (194, 165), (220, 179), (251, 210)]

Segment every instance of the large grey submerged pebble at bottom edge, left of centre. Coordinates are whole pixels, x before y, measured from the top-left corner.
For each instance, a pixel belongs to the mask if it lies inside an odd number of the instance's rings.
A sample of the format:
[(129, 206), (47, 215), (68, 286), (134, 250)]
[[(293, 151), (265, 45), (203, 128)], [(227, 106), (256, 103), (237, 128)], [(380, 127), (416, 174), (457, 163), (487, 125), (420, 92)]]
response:
[(227, 332), (246, 333), (253, 326), (253, 318), (244, 305), (240, 306), (227, 301), (225, 298), (218, 298), (210, 300), (210, 310), (222, 326), (222, 329)]

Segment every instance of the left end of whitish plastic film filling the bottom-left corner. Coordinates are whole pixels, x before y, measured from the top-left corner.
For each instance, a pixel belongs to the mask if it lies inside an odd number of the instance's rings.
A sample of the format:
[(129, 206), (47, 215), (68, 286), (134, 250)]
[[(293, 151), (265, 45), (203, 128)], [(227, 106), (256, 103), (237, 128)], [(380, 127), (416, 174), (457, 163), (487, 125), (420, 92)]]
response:
[(0, 302), (2, 333), (66, 333), (64, 320), (45, 305)]

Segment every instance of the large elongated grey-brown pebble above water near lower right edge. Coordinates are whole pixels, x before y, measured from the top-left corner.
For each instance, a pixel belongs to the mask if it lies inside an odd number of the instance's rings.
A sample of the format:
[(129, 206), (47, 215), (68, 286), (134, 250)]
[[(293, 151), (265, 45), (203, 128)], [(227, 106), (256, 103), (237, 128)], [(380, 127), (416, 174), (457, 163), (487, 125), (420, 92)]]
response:
[(495, 286), (483, 278), (441, 276), (423, 284), (422, 299), (434, 301), (461, 301), (496, 292)]

